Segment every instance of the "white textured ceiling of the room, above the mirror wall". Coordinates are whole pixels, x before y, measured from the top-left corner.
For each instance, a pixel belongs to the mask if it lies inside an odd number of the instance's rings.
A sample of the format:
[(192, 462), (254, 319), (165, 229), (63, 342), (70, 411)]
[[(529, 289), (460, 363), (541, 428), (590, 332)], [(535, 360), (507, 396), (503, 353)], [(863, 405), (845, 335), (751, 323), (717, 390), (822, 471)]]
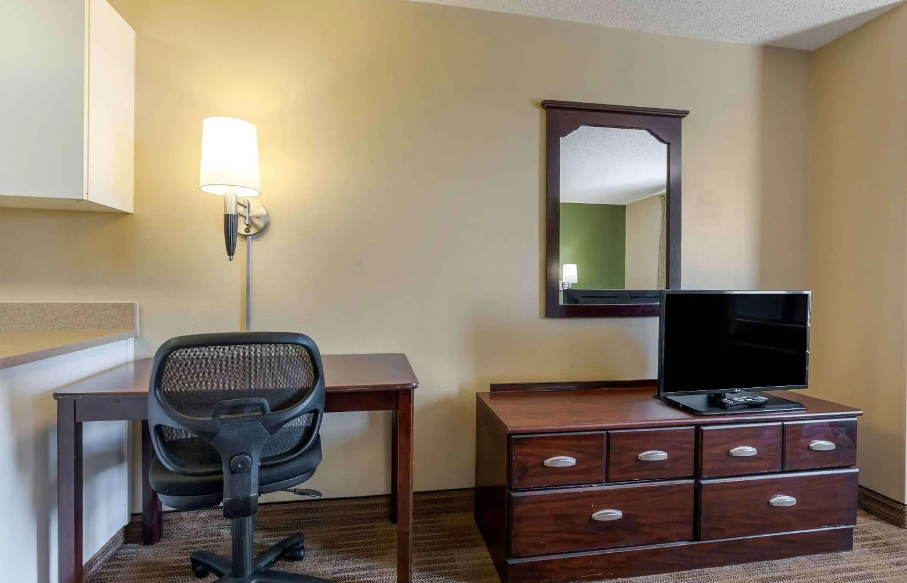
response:
[(416, 0), (812, 51), (902, 0)]

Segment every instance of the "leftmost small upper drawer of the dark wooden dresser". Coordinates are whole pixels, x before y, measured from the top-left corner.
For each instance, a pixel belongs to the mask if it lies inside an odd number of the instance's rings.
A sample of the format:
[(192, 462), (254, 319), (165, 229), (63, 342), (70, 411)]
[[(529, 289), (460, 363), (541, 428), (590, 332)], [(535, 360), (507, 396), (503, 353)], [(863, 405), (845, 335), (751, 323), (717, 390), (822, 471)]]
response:
[(597, 484), (605, 480), (605, 434), (513, 437), (511, 487)]

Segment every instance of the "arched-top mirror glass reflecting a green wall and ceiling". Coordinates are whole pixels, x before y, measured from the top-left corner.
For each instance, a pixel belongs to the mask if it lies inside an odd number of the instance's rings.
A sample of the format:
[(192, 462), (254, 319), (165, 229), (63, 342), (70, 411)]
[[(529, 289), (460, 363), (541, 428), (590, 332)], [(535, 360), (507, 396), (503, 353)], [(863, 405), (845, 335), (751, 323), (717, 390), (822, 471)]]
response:
[(561, 288), (666, 287), (667, 190), (668, 145), (649, 131), (562, 137)]

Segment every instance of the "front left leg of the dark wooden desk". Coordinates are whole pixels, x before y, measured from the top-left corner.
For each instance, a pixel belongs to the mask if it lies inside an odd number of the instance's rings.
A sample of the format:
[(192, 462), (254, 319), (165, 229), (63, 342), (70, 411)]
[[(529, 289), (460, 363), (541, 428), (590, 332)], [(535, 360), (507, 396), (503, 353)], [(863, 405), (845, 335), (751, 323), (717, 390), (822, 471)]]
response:
[(57, 400), (57, 544), (60, 583), (82, 583), (82, 423)]

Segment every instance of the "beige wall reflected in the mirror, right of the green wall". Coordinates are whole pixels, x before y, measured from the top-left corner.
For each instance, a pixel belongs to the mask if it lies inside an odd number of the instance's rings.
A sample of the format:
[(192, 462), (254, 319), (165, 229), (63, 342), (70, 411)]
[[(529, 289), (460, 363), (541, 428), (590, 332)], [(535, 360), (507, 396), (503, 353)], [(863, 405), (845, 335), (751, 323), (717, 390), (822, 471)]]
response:
[(660, 238), (661, 199), (658, 195), (629, 203), (627, 205), (624, 287), (627, 289), (658, 289), (658, 242)]

